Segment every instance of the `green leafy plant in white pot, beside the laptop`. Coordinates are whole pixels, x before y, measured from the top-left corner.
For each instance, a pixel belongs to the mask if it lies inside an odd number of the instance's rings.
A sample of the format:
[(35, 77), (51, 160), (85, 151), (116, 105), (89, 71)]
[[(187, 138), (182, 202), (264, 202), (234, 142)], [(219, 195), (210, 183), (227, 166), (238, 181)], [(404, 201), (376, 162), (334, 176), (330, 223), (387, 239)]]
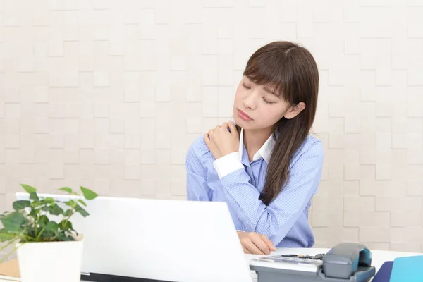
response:
[(6, 242), (0, 250), (13, 246), (2, 262), (16, 251), (23, 282), (79, 282), (84, 240), (73, 229), (71, 217), (76, 213), (88, 216), (84, 200), (95, 199), (97, 193), (80, 187), (82, 198), (78, 192), (63, 187), (59, 190), (75, 197), (60, 202), (39, 197), (37, 189), (30, 185), (21, 186), (30, 200), (17, 200), (13, 202), (13, 212), (0, 215), (0, 241)]

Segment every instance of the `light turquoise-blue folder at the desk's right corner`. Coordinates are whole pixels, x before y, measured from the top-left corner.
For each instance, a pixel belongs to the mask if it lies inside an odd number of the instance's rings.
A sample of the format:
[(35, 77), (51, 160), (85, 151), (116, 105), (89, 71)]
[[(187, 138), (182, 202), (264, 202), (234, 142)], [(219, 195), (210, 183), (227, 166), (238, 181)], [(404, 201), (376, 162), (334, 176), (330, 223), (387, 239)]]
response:
[(389, 282), (423, 281), (423, 255), (398, 257), (393, 260)]

